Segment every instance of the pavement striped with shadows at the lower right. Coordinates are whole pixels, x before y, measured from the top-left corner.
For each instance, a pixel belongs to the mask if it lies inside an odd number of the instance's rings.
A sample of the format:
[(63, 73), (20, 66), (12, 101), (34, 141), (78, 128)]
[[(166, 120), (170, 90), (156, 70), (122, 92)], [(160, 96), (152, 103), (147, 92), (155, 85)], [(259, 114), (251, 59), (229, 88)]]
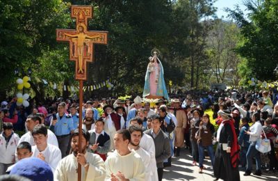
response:
[[(204, 173), (198, 173), (199, 167), (192, 166), (192, 157), (189, 156), (188, 150), (181, 150), (181, 156), (176, 158), (172, 157), (172, 166), (164, 168), (163, 180), (198, 180), (198, 181), (210, 181), (213, 180), (213, 169), (211, 162), (208, 157), (206, 157), (204, 166), (206, 170), (203, 170)], [(255, 165), (254, 165), (255, 168)], [(243, 181), (259, 181), (259, 180), (268, 180), (274, 181), (278, 180), (278, 173), (276, 174), (266, 174), (263, 173), (261, 177), (250, 175), (244, 176), (244, 171), (240, 171), (240, 180)]]

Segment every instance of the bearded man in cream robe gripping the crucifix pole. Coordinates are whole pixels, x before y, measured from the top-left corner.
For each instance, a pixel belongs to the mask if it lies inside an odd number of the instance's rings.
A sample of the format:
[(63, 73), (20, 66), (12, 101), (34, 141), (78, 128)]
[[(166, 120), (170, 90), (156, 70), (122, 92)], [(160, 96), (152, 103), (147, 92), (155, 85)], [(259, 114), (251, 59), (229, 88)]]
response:
[(106, 173), (104, 161), (99, 155), (87, 152), (89, 140), (90, 134), (82, 130), (82, 152), (79, 153), (79, 129), (74, 130), (71, 141), (72, 154), (59, 162), (54, 173), (55, 181), (76, 181), (78, 164), (81, 164), (82, 181), (104, 180)]

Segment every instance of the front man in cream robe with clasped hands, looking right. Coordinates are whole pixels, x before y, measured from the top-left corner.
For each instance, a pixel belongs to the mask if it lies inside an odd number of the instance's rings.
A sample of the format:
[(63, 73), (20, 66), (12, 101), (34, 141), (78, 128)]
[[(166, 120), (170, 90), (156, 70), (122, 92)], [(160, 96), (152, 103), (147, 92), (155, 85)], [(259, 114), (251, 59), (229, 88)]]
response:
[(140, 155), (129, 150), (131, 134), (120, 129), (114, 136), (115, 151), (105, 162), (106, 180), (145, 180), (145, 166)]

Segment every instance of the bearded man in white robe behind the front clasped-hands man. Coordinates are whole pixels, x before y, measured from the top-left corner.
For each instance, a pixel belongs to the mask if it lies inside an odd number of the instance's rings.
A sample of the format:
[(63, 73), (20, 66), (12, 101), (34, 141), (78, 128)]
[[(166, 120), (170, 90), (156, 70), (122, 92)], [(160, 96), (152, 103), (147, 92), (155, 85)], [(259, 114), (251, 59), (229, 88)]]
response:
[(150, 170), (149, 170), (149, 162), (151, 161), (151, 156), (149, 153), (140, 147), (139, 143), (142, 138), (142, 128), (138, 126), (130, 126), (129, 132), (131, 134), (131, 141), (129, 143), (129, 149), (134, 150), (140, 155), (144, 165), (145, 165), (145, 180), (152, 181)]

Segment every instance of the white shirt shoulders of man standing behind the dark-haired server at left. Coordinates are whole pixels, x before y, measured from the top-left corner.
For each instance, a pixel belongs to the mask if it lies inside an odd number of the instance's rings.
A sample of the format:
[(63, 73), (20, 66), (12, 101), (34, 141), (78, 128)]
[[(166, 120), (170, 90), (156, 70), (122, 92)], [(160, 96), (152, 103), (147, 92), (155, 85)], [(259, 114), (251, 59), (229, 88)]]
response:
[[(23, 141), (30, 143), (30, 145), (35, 145), (35, 141), (31, 132), (26, 132), (26, 134), (22, 135), (17, 145), (19, 145), (19, 143), (22, 143)], [(47, 129), (47, 144), (55, 145), (59, 148), (55, 134), (51, 132), (49, 129)]]

